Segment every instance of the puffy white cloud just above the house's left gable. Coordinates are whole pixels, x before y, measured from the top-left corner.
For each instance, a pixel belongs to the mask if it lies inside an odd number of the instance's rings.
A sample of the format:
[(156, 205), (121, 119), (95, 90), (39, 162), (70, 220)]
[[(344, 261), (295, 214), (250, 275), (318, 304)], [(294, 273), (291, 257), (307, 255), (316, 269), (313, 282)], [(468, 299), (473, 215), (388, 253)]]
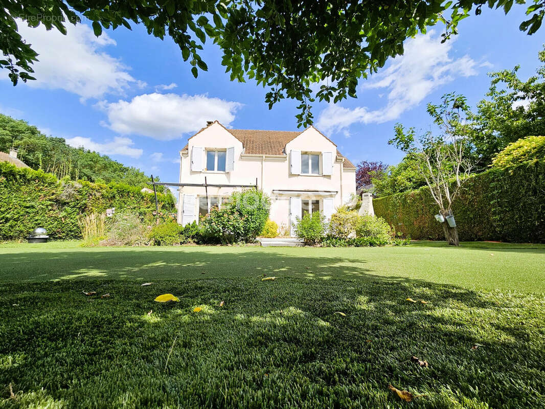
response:
[(102, 125), (122, 135), (137, 134), (161, 141), (181, 137), (216, 120), (228, 127), (242, 105), (207, 95), (143, 94), (131, 101), (102, 101), (99, 109), (107, 112)]

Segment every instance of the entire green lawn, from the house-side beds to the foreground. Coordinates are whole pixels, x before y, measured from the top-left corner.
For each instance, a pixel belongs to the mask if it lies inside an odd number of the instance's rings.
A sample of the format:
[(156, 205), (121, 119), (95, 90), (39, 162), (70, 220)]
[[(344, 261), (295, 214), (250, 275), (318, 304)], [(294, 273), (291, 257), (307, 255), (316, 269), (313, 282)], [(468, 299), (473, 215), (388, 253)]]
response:
[(0, 408), (543, 407), (544, 266), (494, 243), (0, 245)]

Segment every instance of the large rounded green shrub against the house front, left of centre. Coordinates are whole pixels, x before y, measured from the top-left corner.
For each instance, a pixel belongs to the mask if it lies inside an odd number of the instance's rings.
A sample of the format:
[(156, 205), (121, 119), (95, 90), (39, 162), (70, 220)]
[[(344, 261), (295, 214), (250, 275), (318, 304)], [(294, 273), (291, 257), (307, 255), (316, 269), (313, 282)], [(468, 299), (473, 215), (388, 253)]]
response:
[(214, 207), (202, 220), (201, 242), (221, 244), (249, 243), (263, 231), (269, 217), (270, 200), (261, 190), (234, 192), (222, 204)]

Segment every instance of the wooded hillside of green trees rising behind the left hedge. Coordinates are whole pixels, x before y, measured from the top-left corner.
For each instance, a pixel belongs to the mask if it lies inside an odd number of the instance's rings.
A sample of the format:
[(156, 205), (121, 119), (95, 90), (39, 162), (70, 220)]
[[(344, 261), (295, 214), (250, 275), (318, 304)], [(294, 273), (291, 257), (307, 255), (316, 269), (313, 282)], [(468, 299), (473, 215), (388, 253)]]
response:
[[(0, 151), (7, 152), (11, 146), (19, 148), (17, 156), (32, 169), (53, 173), (59, 179), (123, 182), (134, 186), (145, 186), (150, 180), (134, 167), (87, 149), (68, 146), (63, 138), (45, 136), (25, 121), (0, 114)], [(165, 191), (162, 186), (157, 188)]]

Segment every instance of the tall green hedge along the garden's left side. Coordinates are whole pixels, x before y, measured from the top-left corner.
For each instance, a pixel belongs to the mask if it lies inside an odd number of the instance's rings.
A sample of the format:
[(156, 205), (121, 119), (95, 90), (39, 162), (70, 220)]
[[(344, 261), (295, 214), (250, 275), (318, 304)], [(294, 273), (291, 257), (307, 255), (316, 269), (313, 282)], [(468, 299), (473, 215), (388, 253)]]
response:
[[(51, 173), (0, 162), (0, 239), (26, 237), (35, 227), (45, 227), (55, 239), (80, 238), (81, 214), (132, 210), (150, 217), (155, 211), (153, 194), (120, 183), (59, 181)], [(175, 212), (171, 195), (158, 194), (160, 210)]]

